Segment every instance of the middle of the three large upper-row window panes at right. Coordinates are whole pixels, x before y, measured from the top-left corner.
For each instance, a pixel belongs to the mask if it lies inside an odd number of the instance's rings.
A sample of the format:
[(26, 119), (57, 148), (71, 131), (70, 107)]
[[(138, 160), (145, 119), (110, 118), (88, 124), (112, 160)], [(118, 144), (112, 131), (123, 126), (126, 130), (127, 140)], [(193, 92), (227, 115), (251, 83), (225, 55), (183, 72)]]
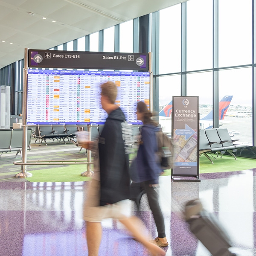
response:
[(212, 67), (212, 0), (187, 2), (187, 70)]

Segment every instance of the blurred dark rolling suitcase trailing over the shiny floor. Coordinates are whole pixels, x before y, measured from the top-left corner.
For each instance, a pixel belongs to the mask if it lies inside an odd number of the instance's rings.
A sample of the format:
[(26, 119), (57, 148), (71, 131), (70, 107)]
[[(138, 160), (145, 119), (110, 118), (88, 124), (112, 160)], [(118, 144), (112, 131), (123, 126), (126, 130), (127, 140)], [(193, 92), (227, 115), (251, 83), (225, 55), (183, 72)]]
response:
[(185, 218), (192, 233), (204, 244), (213, 256), (232, 256), (231, 241), (218, 219), (203, 209), (196, 199), (186, 203)]

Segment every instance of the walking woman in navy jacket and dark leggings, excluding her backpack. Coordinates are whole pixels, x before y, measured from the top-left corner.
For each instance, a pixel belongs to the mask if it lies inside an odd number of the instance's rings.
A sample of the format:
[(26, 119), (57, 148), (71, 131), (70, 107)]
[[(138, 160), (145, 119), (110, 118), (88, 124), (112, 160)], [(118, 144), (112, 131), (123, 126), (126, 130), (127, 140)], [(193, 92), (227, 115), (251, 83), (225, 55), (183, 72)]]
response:
[(143, 182), (141, 182), (140, 185), (138, 183), (131, 184), (131, 194), (135, 192), (132, 191), (133, 187), (138, 188), (138, 185), (140, 186), (140, 191), (137, 193), (139, 197), (136, 195), (131, 199), (136, 201), (137, 206), (139, 206), (143, 191), (147, 194), (148, 204), (157, 226), (158, 236), (155, 239), (155, 242), (160, 247), (166, 247), (168, 246), (168, 242), (166, 239), (163, 214), (159, 206), (157, 194), (157, 188), (159, 187), (159, 175), (163, 173), (156, 154), (156, 131), (159, 130), (159, 126), (151, 119), (152, 113), (148, 111), (148, 107), (144, 102), (137, 103), (136, 114), (137, 119), (143, 122), (143, 126), (141, 128), (141, 140), (137, 154), (137, 168), (140, 170), (141, 180)]

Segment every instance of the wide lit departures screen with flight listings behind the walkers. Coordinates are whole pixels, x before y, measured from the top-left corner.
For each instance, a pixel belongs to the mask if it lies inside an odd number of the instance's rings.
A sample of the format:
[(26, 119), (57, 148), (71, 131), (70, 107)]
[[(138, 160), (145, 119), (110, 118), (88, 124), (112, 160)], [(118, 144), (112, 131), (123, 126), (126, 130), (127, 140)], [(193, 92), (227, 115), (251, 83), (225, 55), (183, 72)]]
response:
[(150, 73), (125, 71), (28, 70), (27, 124), (104, 124), (100, 85), (113, 81), (116, 105), (130, 124), (137, 121), (137, 102), (149, 107)]

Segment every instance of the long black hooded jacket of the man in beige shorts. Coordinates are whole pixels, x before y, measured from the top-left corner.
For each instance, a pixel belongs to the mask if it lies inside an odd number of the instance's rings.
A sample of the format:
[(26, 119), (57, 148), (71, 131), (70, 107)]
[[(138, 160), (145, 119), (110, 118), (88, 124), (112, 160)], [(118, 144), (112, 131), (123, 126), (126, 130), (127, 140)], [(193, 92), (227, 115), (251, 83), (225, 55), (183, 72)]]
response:
[(99, 137), (100, 205), (130, 197), (129, 159), (122, 138), (125, 115), (120, 108), (106, 119)]

